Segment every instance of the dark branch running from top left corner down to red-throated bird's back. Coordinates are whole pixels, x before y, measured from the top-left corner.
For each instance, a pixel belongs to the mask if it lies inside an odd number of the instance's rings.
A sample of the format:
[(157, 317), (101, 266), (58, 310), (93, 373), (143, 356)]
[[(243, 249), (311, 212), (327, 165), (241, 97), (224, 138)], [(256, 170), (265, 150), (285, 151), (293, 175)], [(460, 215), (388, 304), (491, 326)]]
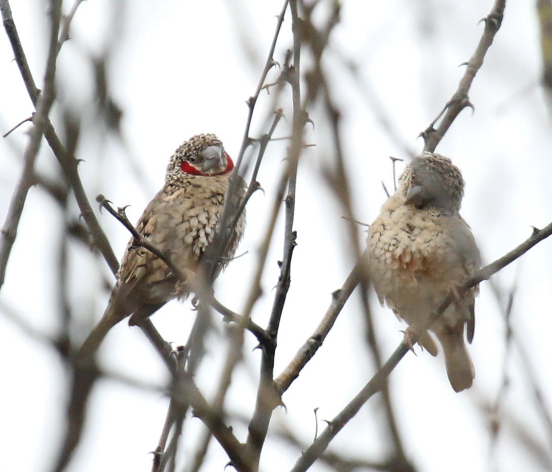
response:
[[(10, 44), (12, 45), (15, 61), (17, 62), (17, 65), (19, 67), (19, 71), (22, 75), (23, 82), (25, 84), (29, 97), (38, 113), (40, 90), (36, 88), (33, 75), (31, 74), (31, 71), (29, 69), (29, 64), (26, 60), (21, 41), (19, 40), (19, 34), (17, 32), (17, 28), (15, 27), (8, 0), (0, 0), (0, 11), (2, 12), (4, 29), (6, 29), (6, 34), (10, 41)], [(56, 53), (52, 55), (51, 60), (55, 62), (56, 56), (57, 45)], [(105, 261), (107, 261), (109, 268), (112, 270), (113, 274), (115, 274), (115, 272), (119, 268), (119, 261), (115, 257), (115, 254), (113, 253), (109, 241), (107, 237), (105, 237), (105, 234), (100, 227), (98, 220), (94, 216), (94, 212), (92, 211), (92, 208), (86, 196), (86, 192), (84, 192), (84, 187), (82, 186), (82, 182), (77, 170), (78, 161), (75, 159), (74, 156), (67, 153), (67, 150), (61, 144), (61, 141), (57, 137), (54, 127), (52, 127), (52, 124), (50, 123), (50, 120), (47, 118), (47, 116), (45, 117), (45, 123), (43, 126), (46, 141), (50, 145), (52, 151), (54, 151), (54, 154), (57, 160), (60, 162), (63, 172), (65, 172), (67, 176), (67, 180), (71, 184), (73, 193), (75, 194), (75, 198), (77, 200), (78, 207), (81, 210), (84, 221), (88, 225), (88, 228), (90, 228), (94, 244), (100, 250), (100, 253), (102, 253), (102, 255), (104, 256), (104, 259)]]

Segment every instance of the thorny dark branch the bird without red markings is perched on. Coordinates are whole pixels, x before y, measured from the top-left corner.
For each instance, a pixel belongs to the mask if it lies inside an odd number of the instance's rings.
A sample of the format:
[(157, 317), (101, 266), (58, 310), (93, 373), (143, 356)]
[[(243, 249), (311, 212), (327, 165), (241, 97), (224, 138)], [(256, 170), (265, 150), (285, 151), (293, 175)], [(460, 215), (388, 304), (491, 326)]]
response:
[[(439, 304), (439, 306), (434, 310), (428, 318), (427, 326), (422, 327), (422, 330), (431, 327), (431, 325), (436, 321), (439, 316), (447, 309), (447, 307), (454, 300), (457, 300), (457, 297), (464, 295), (471, 287), (479, 284), (480, 282), (489, 279), (493, 274), (499, 270), (505, 268), (508, 264), (512, 263), (514, 260), (521, 257), (529, 249), (531, 249), (535, 244), (538, 244), (543, 239), (548, 238), (552, 234), (552, 223), (546, 226), (543, 229), (534, 229), (533, 234), (517, 248), (513, 249), (509, 253), (503, 255), (500, 259), (497, 259), (493, 263), (485, 266), (484, 268), (474, 272), (473, 275), (464, 280), (461, 284), (456, 287), (456, 290), (451, 290), (447, 297)], [(421, 332), (423, 332), (421, 330)], [(412, 342), (416, 342), (416, 339), (413, 339)], [(370, 379), (368, 384), (366, 384), (362, 390), (348, 403), (346, 407), (343, 408), (341, 412), (337, 414), (335, 418), (328, 423), (328, 427), (322, 432), (322, 434), (311, 444), (309, 449), (307, 449), (301, 457), (296, 461), (295, 466), (291, 469), (291, 472), (304, 472), (307, 470), (314, 461), (320, 457), (320, 455), (326, 450), (330, 441), (336, 436), (336, 434), (341, 431), (341, 429), (348, 423), (348, 421), (353, 418), (360, 407), (364, 405), (365, 402), (369, 400), (376, 392), (381, 390), (383, 382), (386, 377), (389, 376), (391, 371), (396, 367), (399, 361), (405, 356), (408, 352), (408, 347), (405, 344), (404, 340), (401, 342), (399, 347), (395, 352), (390, 356), (386, 363), (381, 367), (381, 369)]]

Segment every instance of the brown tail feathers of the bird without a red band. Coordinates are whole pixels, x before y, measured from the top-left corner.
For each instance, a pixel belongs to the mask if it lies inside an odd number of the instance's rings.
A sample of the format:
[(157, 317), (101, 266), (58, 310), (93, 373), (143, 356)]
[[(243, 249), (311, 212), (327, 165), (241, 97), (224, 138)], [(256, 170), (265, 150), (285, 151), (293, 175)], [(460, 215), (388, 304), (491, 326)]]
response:
[(443, 346), (450, 385), (455, 392), (469, 389), (474, 381), (475, 370), (463, 335), (442, 333), (439, 335), (439, 341)]

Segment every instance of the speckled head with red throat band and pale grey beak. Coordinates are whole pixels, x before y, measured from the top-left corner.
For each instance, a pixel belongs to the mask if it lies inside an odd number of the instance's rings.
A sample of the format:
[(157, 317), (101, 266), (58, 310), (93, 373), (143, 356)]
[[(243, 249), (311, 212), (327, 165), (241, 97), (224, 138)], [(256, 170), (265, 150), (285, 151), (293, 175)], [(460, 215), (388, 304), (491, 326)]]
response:
[(167, 182), (181, 180), (184, 175), (227, 174), (233, 168), (232, 159), (216, 135), (198, 134), (174, 151), (167, 167)]

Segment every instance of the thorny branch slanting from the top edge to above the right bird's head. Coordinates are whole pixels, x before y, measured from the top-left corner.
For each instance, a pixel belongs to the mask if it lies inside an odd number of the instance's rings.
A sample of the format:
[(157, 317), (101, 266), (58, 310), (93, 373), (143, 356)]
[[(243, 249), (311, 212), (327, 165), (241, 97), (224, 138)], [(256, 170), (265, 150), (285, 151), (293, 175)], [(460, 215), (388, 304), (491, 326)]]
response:
[[(489, 15), (482, 20), (485, 22), (483, 34), (479, 40), (479, 44), (477, 44), (474, 55), (471, 56), (470, 60), (465, 63), (466, 71), (460, 79), (457, 90), (454, 92), (453, 96), (444, 106), (442, 111), (440, 111), (437, 117), (422, 133), (420, 133), (424, 140), (424, 151), (433, 152), (458, 114), (465, 107), (473, 108), (473, 105), (470, 103), (468, 98), (468, 91), (470, 90), (471, 82), (473, 82), (477, 71), (479, 71), (483, 65), (485, 54), (490, 48), (492, 41), (495, 38), (495, 34), (498, 32), (498, 29), (502, 24), (505, 6), (506, 0), (495, 0), (491, 13), (489, 13)], [(441, 121), (437, 129), (435, 129), (434, 126), (437, 124), (439, 119), (441, 119)]]

